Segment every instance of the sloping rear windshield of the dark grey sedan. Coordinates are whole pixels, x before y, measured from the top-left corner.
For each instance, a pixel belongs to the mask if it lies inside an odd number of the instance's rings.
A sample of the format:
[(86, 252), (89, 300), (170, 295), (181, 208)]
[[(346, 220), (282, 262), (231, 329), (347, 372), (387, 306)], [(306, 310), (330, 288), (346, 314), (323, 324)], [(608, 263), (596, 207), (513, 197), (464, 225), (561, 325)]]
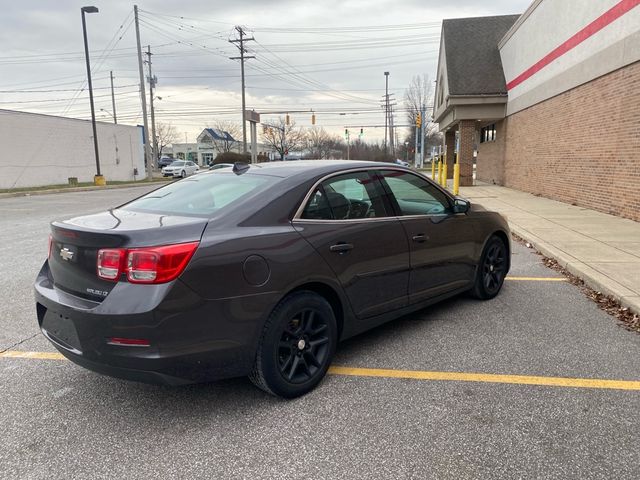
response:
[(226, 206), (266, 190), (278, 180), (266, 175), (201, 173), (150, 192), (121, 208), (210, 217)]

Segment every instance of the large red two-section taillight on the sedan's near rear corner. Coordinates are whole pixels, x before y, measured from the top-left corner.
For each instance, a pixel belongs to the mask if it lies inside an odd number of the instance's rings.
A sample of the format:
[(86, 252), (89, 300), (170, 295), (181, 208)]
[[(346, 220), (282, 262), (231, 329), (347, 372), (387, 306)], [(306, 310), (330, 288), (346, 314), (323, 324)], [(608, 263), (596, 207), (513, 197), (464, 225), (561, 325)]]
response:
[(131, 283), (166, 283), (174, 280), (185, 269), (198, 242), (126, 249), (98, 251), (98, 276), (118, 281), (126, 273)]

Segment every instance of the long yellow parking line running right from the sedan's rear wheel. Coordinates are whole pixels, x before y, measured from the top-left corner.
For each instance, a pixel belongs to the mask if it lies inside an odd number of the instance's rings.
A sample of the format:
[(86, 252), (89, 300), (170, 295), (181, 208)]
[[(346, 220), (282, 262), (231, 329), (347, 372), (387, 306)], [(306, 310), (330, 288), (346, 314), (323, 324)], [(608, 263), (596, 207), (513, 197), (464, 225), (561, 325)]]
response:
[(406, 378), (411, 380), (441, 380), (457, 382), (511, 383), (549, 387), (603, 388), (640, 390), (640, 381), (603, 380), (596, 378), (537, 377), (527, 375), (496, 375), (491, 373), (429, 372), (418, 370), (386, 370), (332, 366), (329, 373), (355, 377)]

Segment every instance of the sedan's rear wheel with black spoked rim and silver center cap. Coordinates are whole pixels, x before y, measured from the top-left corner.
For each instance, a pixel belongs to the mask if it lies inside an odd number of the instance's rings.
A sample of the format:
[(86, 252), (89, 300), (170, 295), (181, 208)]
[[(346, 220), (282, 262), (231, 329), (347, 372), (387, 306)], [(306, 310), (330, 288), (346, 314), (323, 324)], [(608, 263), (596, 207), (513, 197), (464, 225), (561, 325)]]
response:
[(269, 315), (249, 379), (271, 395), (295, 398), (324, 378), (338, 339), (331, 305), (310, 291), (285, 297)]

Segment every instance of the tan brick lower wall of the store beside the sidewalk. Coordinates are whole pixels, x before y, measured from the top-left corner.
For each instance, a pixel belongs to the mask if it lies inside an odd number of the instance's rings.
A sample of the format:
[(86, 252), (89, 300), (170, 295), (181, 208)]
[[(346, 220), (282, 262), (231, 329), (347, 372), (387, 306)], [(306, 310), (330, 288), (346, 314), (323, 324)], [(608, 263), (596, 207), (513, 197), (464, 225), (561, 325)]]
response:
[(505, 122), (505, 186), (640, 221), (640, 62)]

